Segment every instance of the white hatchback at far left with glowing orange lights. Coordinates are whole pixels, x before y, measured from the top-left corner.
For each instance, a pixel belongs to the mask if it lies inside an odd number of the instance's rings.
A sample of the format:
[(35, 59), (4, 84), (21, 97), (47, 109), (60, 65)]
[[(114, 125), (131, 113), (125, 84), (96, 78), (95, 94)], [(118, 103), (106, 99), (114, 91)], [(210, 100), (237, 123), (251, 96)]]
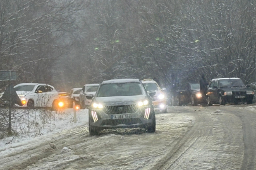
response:
[(21, 99), (22, 107), (48, 107), (53, 110), (58, 107), (59, 94), (49, 84), (21, 83), (14, 88)]

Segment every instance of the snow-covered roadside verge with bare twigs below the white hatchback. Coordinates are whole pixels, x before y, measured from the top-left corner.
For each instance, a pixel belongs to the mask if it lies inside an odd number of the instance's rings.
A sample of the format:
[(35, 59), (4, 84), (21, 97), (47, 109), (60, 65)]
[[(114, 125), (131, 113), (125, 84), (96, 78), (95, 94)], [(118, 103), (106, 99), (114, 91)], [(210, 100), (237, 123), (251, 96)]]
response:
[(0, 149), (13, 147), (15, 144), (26, 143), (28, 140), (38, 138), (49, 133), (61, 132), (81, 125), (88, 125), (88, 110), (76, 111), (76, 123), (74, 122), (73, 108), (61, 111), (49, 110), (15, 110), (15, 118), (12, 123), (16, 135), (0, 140)]

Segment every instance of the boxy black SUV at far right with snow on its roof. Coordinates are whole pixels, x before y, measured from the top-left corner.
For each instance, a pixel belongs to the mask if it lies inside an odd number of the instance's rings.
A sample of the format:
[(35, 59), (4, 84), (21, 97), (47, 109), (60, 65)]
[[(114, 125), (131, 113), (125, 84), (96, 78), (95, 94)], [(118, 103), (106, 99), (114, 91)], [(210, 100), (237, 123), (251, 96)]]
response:
[(238, 104), (239, 101), (252, 103), (253, 90), (243, 84), (239, 78), (212, 79), (207, 91), (208, 105), (225, 105), (226, 103)]

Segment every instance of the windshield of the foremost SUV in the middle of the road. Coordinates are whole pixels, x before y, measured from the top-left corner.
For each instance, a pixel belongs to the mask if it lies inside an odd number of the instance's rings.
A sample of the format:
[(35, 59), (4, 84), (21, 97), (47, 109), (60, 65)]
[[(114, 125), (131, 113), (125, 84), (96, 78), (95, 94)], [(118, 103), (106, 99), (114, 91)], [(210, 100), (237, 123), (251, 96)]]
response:
[(103, 84), (97, 97), (137, 96), (142, 94), (142, 86), (137, 82)]

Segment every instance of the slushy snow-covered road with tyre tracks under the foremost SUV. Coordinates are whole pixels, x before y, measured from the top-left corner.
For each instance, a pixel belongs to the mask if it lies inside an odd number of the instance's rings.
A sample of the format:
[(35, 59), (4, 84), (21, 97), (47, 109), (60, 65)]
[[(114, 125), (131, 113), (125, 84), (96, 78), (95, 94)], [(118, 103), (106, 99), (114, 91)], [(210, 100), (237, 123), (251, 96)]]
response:
[(156, 115), (155, 133), (121, 129), (93, 137), (85, 121), (3, 145), (0, 169), (254, 169), (255, 115), (247, 105), (172, 106)]

